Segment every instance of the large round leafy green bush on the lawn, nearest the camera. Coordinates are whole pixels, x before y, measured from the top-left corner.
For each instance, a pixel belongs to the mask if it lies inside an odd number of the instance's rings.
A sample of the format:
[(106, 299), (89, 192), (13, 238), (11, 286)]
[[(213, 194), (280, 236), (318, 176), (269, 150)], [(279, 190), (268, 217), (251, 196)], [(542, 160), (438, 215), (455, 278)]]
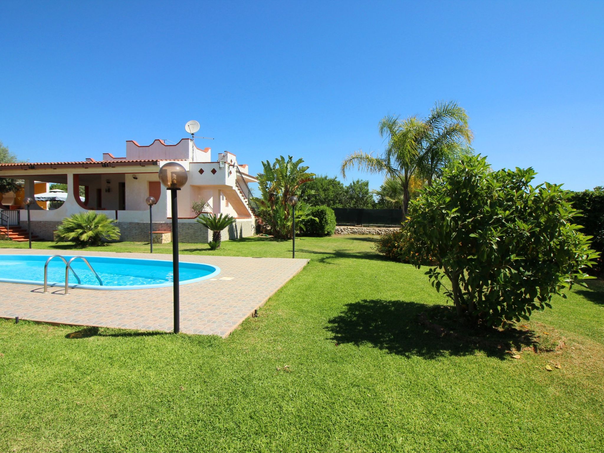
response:
[(533, 169), (492, 172), (486, 158), (465, 156), (411, 202), (403, 228), (411, 258), (436, 260), (426, 274), (459, 315), (495, 326), (528, 320), (589, 278), (583, 272), (597, 253), (573, 223), (571, 193), (533, 187), (534, 177)]

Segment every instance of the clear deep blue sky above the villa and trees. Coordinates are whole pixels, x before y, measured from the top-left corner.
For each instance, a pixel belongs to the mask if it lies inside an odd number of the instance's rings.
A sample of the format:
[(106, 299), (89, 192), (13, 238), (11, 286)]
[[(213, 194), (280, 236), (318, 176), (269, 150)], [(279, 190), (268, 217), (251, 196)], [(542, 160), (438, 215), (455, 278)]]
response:
[(493, 167), (604, 184), (604, 2), (3, 1), (0, 24), (0, 140), (22, 159), (123, 155), (194, 119), (252, 173), (289, 154), (338, 175), (383, 149), (384, 115), (457, 100)]

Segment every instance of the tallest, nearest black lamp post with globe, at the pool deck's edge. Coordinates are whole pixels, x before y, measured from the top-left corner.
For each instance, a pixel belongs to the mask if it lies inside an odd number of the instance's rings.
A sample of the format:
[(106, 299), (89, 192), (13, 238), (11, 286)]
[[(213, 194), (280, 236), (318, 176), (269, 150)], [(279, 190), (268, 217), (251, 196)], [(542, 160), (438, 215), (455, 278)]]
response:
[(181, 330), (180, 284), (178, 275), (178, 205), (176, 191), (187, 184), (187, 170), (181, 164), (168, 162), (159, 169), (159, 181), (170, 191), (172, 199), (172, 269), (174, 292), (174, 333)]

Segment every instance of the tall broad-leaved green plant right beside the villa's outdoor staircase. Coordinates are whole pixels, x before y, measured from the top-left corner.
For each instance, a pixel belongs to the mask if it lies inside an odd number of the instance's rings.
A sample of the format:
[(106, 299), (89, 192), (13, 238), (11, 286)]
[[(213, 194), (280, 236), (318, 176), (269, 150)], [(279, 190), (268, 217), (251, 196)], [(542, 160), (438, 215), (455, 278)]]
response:
[[(292, 236), (291, 196), (300, 198), (301, 186), (312, 181), (315, 173), (309, 173), (309, 167), (302, 165), (303, 159), (294, 161), (292, 156), (285, 159), (279, 156), (271, 162), (262, 162), (263, 173), (258, 173), (260, 197), (254, 201), (260, 206), (260, 218), (275, 237)], [(299, 201), (295, 208), (296, 225), (304, 227), (304, 220), (310, 217), (309, 205)]]

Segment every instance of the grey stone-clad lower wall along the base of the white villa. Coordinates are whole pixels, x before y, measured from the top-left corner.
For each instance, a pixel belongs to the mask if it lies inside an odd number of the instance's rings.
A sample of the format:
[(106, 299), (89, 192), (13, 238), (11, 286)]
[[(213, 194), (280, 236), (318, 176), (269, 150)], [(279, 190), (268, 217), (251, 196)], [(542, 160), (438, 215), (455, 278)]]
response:
[[(54, 240), (53, 231), (61, 222), (48, 222), (36, 220), (31, 222), (31, 234), (42, 240)], [(21, 222), (22, 228), (27, 230), (27, 220)], [(120, 241), (149, 242), (149, 222), (120, 222)], [(153, 231), (172, 231), (170, 222), (153, 222)], [(254, 236), (254, 219), (236, 220), (233, 225), (222, 231), (222, 239), (239, 239), (240, 237)], [(184, 243), (207, 243), (212, 234), (205, 226), (197, 222), (178, 223), (178, 241)]]

